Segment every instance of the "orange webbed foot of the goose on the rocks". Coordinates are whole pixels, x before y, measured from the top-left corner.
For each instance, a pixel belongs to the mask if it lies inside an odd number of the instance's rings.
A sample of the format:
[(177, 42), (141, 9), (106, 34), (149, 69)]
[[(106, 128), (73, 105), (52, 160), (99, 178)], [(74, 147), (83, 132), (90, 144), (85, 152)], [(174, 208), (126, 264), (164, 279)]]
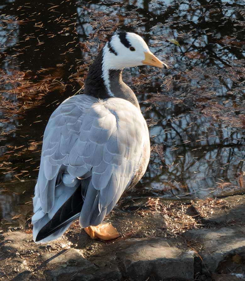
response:
[(84, 228), (84, 230), (92, 239), (99, 238), (101, 240), (113, 240), (120, 236), (117, 229), (110, 223), (89, 226)]

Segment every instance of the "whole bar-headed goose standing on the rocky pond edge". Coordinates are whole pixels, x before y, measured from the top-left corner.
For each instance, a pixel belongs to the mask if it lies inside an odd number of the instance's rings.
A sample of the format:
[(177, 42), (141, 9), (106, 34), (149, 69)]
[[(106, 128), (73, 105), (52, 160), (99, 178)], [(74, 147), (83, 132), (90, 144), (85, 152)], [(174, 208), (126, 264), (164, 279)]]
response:
[[(136, 96), (122, 81), (123, 68), (144, 64), (167, 68), (139, 35), (112, 36), (90, 67), (84, 94), (52, 113), (33, 198), (36, 243), (57, 239), (78, 217), (96, 237), (122, 193), (144, 175), (149, 132)], [(105, 240), (118, 236), (107, 226), (103, 231)]]

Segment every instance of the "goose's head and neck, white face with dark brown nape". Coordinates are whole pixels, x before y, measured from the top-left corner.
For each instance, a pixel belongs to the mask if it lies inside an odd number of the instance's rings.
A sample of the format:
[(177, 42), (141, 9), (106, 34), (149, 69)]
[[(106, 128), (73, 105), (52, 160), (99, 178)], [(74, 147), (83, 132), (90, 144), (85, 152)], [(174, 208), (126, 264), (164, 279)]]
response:
[(167, 69), (167, 65), (150, 52), (139, 35), (131, 32), (113, 35), (90, 66), (84, 94), (100, 99), (123, 98), (140, 109), (135, 94), (122, 81), (122, 69), (139, 65)]

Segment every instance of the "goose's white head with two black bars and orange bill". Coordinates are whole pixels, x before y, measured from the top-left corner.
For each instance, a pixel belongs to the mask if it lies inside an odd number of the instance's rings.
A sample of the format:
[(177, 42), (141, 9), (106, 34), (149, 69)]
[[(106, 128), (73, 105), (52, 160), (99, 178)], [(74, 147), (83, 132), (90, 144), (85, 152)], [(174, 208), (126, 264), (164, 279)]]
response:
[(103, 67), (106, 69), (118, 70), (144, 64), (167, 68), (135, 33), (120, 32), (112, 36), (103, 49)]

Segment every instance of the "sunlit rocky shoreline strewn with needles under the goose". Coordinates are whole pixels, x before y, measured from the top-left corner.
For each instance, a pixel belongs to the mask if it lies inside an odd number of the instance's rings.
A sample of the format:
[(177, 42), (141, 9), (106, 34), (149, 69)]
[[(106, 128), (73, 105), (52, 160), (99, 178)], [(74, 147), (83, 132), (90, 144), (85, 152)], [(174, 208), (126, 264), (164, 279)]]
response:
[(106, 219), (122, 236), (90, 240), (78, 222), (36, 245), (30, 230), (1, 232), (0, 280), (233, 281), (245, 279), (245, 196), (140, 199)]

